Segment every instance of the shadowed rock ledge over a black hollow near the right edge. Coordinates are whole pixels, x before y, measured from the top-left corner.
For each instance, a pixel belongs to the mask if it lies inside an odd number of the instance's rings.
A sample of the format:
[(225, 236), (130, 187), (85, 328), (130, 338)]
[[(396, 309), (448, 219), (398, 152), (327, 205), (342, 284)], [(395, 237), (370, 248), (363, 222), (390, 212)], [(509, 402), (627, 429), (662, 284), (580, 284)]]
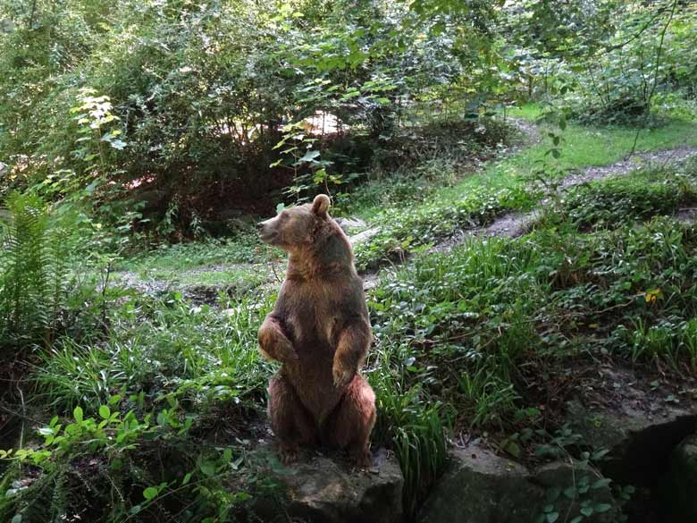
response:
[(676, 445), (697, 430), (697, 414), (669, 406), (653, 412), (627, 405), (593, 412), (570, 401), (567, 419), (585, 445), (608, 450), (602, 473), (622, 485), (653, 487)]

